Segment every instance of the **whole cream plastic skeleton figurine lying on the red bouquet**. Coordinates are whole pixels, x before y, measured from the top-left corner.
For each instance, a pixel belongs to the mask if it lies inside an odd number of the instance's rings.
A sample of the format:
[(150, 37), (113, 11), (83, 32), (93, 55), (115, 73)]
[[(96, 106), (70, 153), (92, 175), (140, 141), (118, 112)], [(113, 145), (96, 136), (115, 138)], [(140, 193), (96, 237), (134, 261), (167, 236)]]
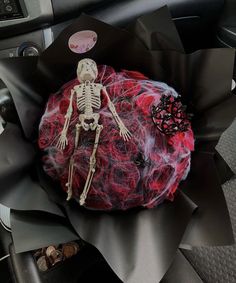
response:
[[(93, 152), (90, 156), (89, 161), (89, 172), (87, 176), (87, 180), (84, 186), (84, 190), (80, 195), (80, 205), (84, 205), (85, 200), (87, 198), (87, 194), (89, 192), (89, 188), (92, 183), (93, 175), (96, 169), (96, 151), (98, 148), (98, 142), (100, 138), (101, 131), (103, 126), (99, 124), (99, 113), (94, 113), (94, 109), (101, 108), (101, 93), (106, 96), (108, 100), (108, 108), (111, 111), (115, 122), (120, 131), (120, 136), (124, 139), (124, 141), (128, 141), (131, 138), (131, 133), (125, 127), (124, 123), (118, 116), (114, 104), (111, 102), (110, 97), (106, 91), (106, 88), (101, 85), (94, 83), (97, 78), (98, 70), (96, 63), (91, 59), (83, 59), (79, 61), (77, 68), (77, 77), (81, 84), (76, 85), (71, 90), (70, 95), (70, 104), (67, 109), (67, 113), (65, 115), (65, 124), (61, 131), (59, 140), (56, 144), (57, 148), (60, 150), (64, 150), (68, 145), (67, 139), (67, 131), (70, 125), (70, 119), (73, 112), (73, 99), (76, 96), (77, 109), (79, 111), (78, 123), (76, 124), (76, 135), (75, 135), (75, 148), (74, 152), (78, 147), (79, 143), (79, 135), (81, 130), (85, 131), (96, 131)], [(73, 182), (73, 174), (74, 174), (74, 154), (70, 158), (69, 162), (69, 174), (68, 174), (68, 182), (67, 186), (67, 200), (70, 200), (72, 197), (72, 182)]]

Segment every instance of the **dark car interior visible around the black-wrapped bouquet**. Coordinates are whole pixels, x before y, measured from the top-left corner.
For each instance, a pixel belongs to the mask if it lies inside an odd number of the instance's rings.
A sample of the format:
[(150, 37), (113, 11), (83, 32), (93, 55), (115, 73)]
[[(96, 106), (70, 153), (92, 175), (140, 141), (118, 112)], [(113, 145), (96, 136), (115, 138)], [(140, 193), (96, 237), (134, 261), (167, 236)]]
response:
[[(1, 0), (0, 59), (28, 56), (37, 58), (66, 27), (83, 13), (123, 28), (129, 26), (139, 16), (153, 12), (164, 5), (167, 5), (170, 10), (186, 53), (207, 48), (236, 48), (235, 0)], [(234, 69), (235, 78), (236, 68)], [(233, 88), (235, 88), (234, 81), (232, 82)], [(0, 80), (0, 133), (4, 130), (2, 125), (5, 122), (17, 123), (18, 117), (11, 94)], [(234, 193), (234, 198), (235, 195), (236, 193)], [(234, 207), (231, 205), (231, 209), (234, 214), (234, 217), (231, 217), (232, 226), (235, 228), (235, 205)], [(96, 280), (94, 274), (103, 273), (108, 274), (107, 277), (110, 279), (102, 282), (121, 282), (112, 273), (109, 266), (103, 265), (103, 263), (95, 266), (93, 274), (91, 274), (87, 266), (92, 263), (83, 259), (78, 259), (78, 262), (65, 263), (60, 271), (55, 270), (53, 276), (50, 274), (48, 276), (40, 275), (30, 252), (22, 254), (14, 252), (11, 233), (7, 228), (9, 221), (7, 215), (7, 208), (0, 206), (2, 224), (0, 225), (1, 283), (77, 282), (73, 276), (68, 281), (61, 281), (61, 278), (66, 278), (66, 276), (68, 278), (71, 272), (78, 271), (80, 268), (81, 271), (78, 272), (82, 275), (78, 282), (94, 282)], [(85, 252), (89, 254), (90, 249), (88, 248)], [(236, 268), (235, 245), (231, 247), (230, 251), (223, 248), (222, 250), (200, 248), (188, 250), (185, 253), (186, 258), (201, 277), (202, 281), (199, 282), (236, 282), (236, 270), (234, 274), (228, 276), (228, 281), (224, 276), (218, 278), (219, 281), (215, 281), (212, 274), (220, 269), (221, 257), (217, 258), (219, 253), (221, 256), (223, 254), (225, 260), (231, 262)], [(5, 255), (9, 256), (4, 258)], [(226, 269), (224, 272), (227, 273), (228, 270)], [(167, 276), (162, 282), (176, 281)], [(189, 282), (195, 281), (190, 279)]]

